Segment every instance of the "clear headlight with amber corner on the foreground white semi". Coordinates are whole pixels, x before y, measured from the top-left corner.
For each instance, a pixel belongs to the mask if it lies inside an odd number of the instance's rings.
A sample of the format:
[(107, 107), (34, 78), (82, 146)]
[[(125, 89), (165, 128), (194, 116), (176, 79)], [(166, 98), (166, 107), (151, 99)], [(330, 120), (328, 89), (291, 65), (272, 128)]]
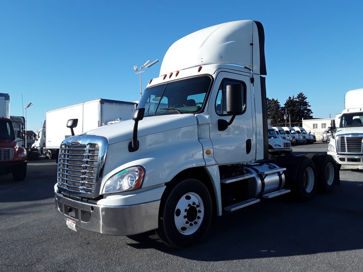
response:
[(145, 169), (142, 166), (134, 166), (122, 170), (109, 178), (103, 187), (103, 194), (130, 191), (141, 187)]

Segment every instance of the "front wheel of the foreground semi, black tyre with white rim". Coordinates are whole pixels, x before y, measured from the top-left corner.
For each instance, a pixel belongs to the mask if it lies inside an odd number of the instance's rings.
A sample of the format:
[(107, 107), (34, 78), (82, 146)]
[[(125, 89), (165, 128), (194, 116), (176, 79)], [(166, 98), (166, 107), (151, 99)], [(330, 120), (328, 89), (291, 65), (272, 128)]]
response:
[(156, 232), (170, 247), (190, 247), (207, 233), (212, 217), (211, 196), (207, 187), (193, 178), (169, 186), (160, 203)]

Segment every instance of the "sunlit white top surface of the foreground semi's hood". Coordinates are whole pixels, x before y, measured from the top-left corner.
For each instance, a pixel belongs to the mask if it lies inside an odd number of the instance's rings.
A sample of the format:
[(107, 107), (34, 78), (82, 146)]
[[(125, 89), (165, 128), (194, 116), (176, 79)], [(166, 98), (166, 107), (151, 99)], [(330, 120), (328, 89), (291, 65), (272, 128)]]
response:
[[(104, 136), (108, 139), (109, 144), (114, 144), (125, 140), (131, 140), (134, 124), (135, 121), (126, 120), (105, 125), (82, 134)], [(197, 120), (193, 114), (150, 116), (139, 121), (137, 135), (138, 137), (142, 137), (196, 124)]]

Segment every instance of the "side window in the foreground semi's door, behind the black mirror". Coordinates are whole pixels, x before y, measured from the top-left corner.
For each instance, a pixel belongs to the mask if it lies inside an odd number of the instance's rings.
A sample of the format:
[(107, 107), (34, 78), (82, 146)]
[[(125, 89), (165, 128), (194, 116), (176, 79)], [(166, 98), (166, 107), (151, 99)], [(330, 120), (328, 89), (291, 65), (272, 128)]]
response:
[(221, 85), (219, 86), (216, 103), (215, 103), (215, 109), (216, 113), (218, 115), (230, 115), (227, 114), (227, 101), (226, 101), (226, 90), (227, 85), (232, 84), (240, 84), (242, 89), (242, 105), (243, 105), (243, 112), (246, 110), (246, 85), (244, 82), (241, 81), (235, 81), (232, 79), (223, 79), (221, 82)]

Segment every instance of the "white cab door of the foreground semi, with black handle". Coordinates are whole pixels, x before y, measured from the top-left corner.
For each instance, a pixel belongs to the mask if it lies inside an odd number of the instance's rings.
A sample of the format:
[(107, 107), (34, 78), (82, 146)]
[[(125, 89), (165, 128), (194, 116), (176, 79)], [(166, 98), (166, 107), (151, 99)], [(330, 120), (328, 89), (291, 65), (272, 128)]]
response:
[[(237, 115), (225, 130), (218, 129), (218, 119), (229, 120), (226, 112), (226, 86), (240, 84), (244, 112)], [(209, 133), (213, 144), (213, 155), (218, 164), (250, 162), (256, 159), (254, 103), (250, 77), (240, 74), (220, 72), (216, 78), (208, 103), (211, 118)]]

